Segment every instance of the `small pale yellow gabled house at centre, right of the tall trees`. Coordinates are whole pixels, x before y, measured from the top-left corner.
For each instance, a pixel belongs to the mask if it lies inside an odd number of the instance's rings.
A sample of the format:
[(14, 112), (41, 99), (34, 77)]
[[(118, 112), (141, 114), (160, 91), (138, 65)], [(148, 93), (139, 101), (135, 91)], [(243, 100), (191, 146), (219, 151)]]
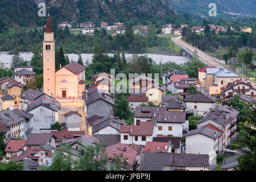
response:
[(162, 95), (166, 94), (166, 89), (163, 85), (158, 84), (147, 86), (146, 97), (148, 97), (148, 102), (159, 105), (162, 101)]

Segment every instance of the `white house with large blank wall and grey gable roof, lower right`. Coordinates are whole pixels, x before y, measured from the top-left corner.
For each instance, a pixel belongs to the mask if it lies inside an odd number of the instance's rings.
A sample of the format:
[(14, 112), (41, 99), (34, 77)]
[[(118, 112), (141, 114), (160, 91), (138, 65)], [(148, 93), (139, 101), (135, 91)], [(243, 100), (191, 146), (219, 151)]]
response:
[(186, 138), (186, 154), (221, 152), (223, 150), (223, 134), (223, 131), (211, 124), (189, 131), (183, 136)]

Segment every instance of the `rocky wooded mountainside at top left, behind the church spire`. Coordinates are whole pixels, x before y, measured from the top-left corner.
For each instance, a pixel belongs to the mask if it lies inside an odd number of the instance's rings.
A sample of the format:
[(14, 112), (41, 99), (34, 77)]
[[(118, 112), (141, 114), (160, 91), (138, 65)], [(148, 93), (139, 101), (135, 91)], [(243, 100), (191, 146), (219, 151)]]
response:
[(30, 26), (45, 23), (38, 16), (38, 4), (46, 3), (57, 22), (139, 22), (175, 16), (170, 0), (1, 0), (0, 19), (9, 25)]

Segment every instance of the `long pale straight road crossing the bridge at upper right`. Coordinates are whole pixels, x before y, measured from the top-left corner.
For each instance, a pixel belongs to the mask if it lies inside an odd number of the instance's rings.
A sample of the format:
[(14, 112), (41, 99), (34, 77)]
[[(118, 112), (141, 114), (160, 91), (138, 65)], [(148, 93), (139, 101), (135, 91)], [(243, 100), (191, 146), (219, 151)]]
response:
[[(171, 38), (172, 41), (174, 41), (177, 46), (180, 46), (181, 48), (185, 49), (186, 51), (190, 52), (193, 54), (193, 52), (197, 51), (197, 56), (198, 58), (204, 63), (207, 64), (208, 66), (213, 66), (213, 67), (223, 67), (220, 63), (217, 63), (216, 61), (213, 60), (213, 57), (205, 53), (204, 51), (201, 51), (198, 48), (195, 48), (185, 42), (184, 40), (181, 40), (182, 36), (178, 36), (176, 38)], [(241, 77), (242, 81), (246, 81), (247, 79), (245, 77)]]

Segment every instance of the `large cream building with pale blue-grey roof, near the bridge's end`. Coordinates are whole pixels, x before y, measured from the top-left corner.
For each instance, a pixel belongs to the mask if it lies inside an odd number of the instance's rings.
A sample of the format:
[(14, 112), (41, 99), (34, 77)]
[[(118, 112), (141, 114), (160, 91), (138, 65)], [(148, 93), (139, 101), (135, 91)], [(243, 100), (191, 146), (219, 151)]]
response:
[(212, 94), (220, 94), (221, 88), (228, 82), (240, 79), (241, 77), (228, 68), (206, 68), (204, 80), (205, 90)]

